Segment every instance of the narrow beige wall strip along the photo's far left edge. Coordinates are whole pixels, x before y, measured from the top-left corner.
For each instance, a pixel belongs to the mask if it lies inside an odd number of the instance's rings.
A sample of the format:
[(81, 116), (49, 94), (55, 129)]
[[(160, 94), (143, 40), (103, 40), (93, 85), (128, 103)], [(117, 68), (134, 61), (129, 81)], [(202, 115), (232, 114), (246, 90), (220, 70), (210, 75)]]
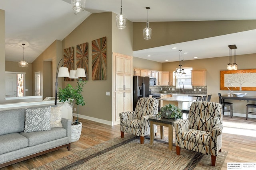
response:
[[(0, 74), (5, 73), (5, 15), (4, 10), (0, 10)], [(4, 102), (5, 81), (0, 82), (0, 103)]]

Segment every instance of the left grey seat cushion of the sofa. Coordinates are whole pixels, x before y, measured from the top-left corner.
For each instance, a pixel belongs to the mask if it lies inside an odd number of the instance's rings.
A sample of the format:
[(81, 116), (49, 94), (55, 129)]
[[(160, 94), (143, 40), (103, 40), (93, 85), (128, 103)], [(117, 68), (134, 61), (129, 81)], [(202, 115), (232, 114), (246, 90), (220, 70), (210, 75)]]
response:
[(0, 154), (28, 147), (28, 139), (19, 133), (0, 135)]

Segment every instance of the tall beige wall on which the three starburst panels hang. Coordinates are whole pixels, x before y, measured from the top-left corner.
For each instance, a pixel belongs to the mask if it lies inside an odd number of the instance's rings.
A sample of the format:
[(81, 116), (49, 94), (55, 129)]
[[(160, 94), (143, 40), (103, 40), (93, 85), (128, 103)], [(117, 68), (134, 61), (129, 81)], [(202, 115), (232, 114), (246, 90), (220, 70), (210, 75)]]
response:
[[(106, 37), (107, 44), (107, 80), (92, 80), (92, 41)], [(62, 51), (68, 47), (88, 42), (88, 81), (84, 86), (82, 95), (86, 101), (85, 106), (79, 106), (79, 114), (112, 121), (112, 13), (91, 14), (74, 31), (62, 41)], [(76, 57), (75, 57), (76, 58)], [(64, 82), (76, 86), (76, 81)], [(75, 111), (76, 112), (76, 111)]]

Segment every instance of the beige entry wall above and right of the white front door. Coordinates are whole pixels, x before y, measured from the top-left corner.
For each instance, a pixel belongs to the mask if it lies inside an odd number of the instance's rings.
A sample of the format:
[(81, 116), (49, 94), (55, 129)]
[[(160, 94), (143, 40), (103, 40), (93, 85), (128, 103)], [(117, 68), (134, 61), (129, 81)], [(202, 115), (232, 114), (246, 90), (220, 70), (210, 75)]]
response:
[(32, 75), (31, 69), (32, 64), (28, 63), (28, 67), (20, 67), (18, 62), (13, 61), (5, 61), (5, 71), (12, 71), (12, 72), (25, 72), (25, 88), (28, 89), (26, 91), (26, 96), (32, 96)]

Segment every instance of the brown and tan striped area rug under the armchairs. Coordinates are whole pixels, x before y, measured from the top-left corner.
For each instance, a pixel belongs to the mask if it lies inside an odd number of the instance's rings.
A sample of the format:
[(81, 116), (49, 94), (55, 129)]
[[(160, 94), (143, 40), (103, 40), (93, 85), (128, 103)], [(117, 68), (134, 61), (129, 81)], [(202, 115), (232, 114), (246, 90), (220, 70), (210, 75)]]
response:
[(178, 156), (174, 144), (169, 151), (166, 138), (149, 143), (149, 137), (140, 144), (139, 137), (125, 134), (124, 139), (117, 137), (34, 170), (220, 170), (228, 154), (220, 152), (214, 167), (210, 155), (181, 149)]

